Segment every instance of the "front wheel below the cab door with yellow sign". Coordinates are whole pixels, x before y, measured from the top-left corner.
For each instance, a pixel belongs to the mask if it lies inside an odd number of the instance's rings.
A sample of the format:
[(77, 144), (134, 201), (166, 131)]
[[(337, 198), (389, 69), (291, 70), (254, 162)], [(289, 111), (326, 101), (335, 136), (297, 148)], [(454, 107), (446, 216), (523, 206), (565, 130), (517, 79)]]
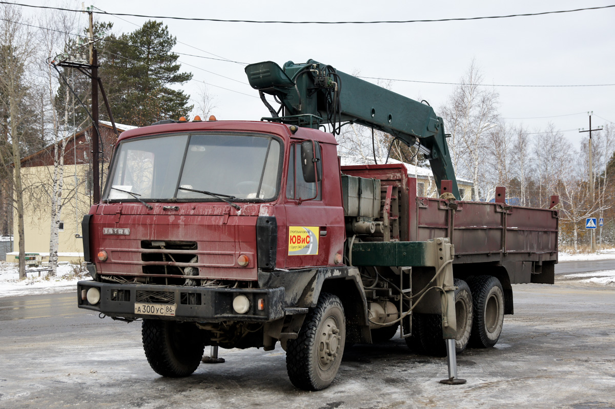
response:
[(319, 391), (338, 373), (346, 342), (346, 318), (338, 297), (323, 292), (296, 340), (288, 340), (286, 369), (296, 388)]

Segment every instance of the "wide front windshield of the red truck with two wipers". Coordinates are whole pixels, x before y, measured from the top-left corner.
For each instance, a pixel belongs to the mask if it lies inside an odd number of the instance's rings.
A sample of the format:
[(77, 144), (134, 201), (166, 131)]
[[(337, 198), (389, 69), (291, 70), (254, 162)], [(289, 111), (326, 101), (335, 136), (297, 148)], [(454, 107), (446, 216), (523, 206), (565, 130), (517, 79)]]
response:
[(271, 200), (277, 196), (279, 165), (280, 142), (268, 136), (128, 139), (117, 147), (103, 199)]

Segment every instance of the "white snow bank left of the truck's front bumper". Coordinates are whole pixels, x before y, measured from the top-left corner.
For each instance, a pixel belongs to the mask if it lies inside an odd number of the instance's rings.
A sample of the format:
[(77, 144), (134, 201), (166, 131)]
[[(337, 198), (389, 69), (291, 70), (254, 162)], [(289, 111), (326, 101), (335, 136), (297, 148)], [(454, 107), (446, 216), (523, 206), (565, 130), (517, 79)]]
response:
[(28, 267), (27, 278), (20, 280), (17, 263), (0, 262), (0, 297), (69, 292), (77, 289), (77, 281), (90, 276), (80, 265), (67, 262), (60, 262), (56, 276), (49, 273), (49, 267)]

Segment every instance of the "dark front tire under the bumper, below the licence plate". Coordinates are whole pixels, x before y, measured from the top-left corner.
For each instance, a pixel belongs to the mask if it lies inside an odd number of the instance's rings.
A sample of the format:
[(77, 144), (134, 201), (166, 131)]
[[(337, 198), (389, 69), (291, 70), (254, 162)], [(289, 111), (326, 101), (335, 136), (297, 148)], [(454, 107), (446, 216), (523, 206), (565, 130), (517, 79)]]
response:
[(144, 319), (141, 335), (149, 366), (157, 374), (181, 378), (199, 367), (205, 343), (196, 325)]

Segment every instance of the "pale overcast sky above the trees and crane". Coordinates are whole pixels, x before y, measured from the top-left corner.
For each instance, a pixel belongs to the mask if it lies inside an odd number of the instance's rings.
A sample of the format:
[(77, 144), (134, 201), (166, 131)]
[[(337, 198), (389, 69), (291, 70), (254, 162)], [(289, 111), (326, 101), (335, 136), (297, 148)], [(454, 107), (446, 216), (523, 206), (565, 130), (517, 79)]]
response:
[[(81, 8), (81, 2), (74, 1), (21, 2)], [(608, 6), (615, 4), (615, 0), (85, 2), (85, 6), (89, 4), (110, 13), (229, 20), (373, 21), (525, 14)], [(41, 11), (25, 12), (35, 15)], [(95, 19), (112, 21), (116, 33), (133, 31), (147, 20), (103, 15), (95, 15)], [(83, 15), (81, 21), (86, 25), (87, 17)], [(281, 66), (288, 60), (300, 63), (312, 58), (339, 71), (359, 72), (367, 77), (459, 82), (474, 58), (486, 84), (615, 84), (615, 7), (494, 20), (372, 25), (163, 21), (170, 33), (177, 36), (174, 51), (241, 63), (272, 60)], [(269, 115), (258, 93), (247, 84), (244, 64), (183, 55), (179, 61), (192, 65), (183, 66), (184, 71), (194, 74), (194, 79), (184, 87), (186, 92), (196, 95), (199, 84), (210, 84), (208, 89), (215, 96), (214, 114), (218, 119), (258, 120)], [(392, 83), (392, 90), (410, 98), (426, 99), (437, 113), (453, 88)], [(507, 122), (523, 123), (530, 132), (542, 130), (552, 122), (577, 148), (581, 138), (587, 137), (587, 133), (578, 131), (589, 127), (587, 111), (593, 111), (592, 127), (615, 121), (615, 86), (496, 90), (499, 112)]]

